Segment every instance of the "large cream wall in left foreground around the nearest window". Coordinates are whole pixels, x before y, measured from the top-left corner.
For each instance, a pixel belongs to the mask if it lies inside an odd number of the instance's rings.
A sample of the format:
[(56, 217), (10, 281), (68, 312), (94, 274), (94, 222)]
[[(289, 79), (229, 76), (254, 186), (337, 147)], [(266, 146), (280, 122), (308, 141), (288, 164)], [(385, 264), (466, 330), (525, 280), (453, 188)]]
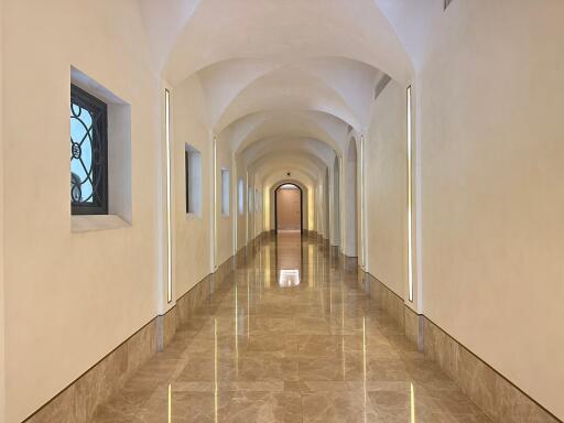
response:
[[(156, 314), (160, 151), (152, 135), (159, 97), (137, 17), (133, 0), (4, 0), (9, 423), (34, 412)], [(70, 232), (72, 65), (131, 104), (132, 226)]]

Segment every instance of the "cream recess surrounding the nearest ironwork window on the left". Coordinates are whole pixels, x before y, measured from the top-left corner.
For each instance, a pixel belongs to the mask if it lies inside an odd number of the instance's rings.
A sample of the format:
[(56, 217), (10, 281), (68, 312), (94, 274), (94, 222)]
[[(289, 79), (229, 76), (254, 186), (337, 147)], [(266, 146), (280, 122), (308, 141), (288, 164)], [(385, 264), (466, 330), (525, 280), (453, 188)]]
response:
[[(126, 227), (132, 223), (131, 106), (76, 67), (70, 67), (70, 86), (76, 86), (107, 105), (107, 215), (73, 215), (73, 232)], [(70, 88), (69, 86), (69, 88)], [(68, 142), (68, 141), (67, 141)]]

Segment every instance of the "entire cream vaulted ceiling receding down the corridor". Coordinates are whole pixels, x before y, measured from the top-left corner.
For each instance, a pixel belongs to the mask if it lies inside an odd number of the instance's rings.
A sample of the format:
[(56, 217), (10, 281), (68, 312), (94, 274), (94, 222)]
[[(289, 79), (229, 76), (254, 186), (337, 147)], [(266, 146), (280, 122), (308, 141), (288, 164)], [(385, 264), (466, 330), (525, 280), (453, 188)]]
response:
[(138, 1), (155, 69), (173, 89), (197, 79), (219, 143), (259, 173), (300, 163), (313, 180), (367, 130), (378, 82), (413, 77), (421, 42), (400, 18), (431, 2)]

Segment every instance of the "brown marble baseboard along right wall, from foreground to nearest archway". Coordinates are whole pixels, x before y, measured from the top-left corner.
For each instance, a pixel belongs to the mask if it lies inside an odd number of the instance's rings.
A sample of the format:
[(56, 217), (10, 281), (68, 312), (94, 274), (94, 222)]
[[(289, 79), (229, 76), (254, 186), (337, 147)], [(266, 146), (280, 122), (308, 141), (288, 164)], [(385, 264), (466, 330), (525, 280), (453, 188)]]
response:
[(438, 325), (408, 307), (384, 283), (369, 273), (365, 273), (365, 278), (370, 297), (404, 330), (405, 337), (436, 362), (494, 422), (562, 423)]

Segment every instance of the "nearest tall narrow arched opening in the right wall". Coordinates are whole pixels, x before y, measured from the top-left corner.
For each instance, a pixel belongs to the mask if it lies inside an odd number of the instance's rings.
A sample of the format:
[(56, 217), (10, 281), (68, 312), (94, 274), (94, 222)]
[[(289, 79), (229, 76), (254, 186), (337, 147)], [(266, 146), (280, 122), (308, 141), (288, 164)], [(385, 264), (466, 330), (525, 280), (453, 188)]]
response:
[(354, 138), (350, 139), (347, 151), (346, 163), (346, 187), (345, 187), (345, 204), (346, 204), (346, 220), (345, 220), (345, 253), (348, 257), (357, 257), (357, 237), (358, 237), (358, 218), (357, 218), (357, 143)]

